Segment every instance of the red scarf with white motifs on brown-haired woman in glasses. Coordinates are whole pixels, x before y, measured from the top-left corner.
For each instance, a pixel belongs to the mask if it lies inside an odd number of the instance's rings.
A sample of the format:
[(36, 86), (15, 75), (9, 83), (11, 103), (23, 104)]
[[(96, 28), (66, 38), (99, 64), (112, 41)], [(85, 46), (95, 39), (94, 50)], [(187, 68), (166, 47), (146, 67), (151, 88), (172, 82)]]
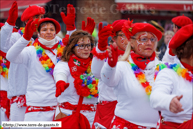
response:
[(68, 66), (70, 68), (70, 73), (74, 78), (74, 87), (78, 95), (86, 97), (90, 94), (90, 90), (87, 87), (81, 86), (82, 80), (80, 79), (80, 75), (83, 74), (92, 59), (89, 57), (87, 59), (78, 58), (75, 55), (71, 55), (68, 61)]

